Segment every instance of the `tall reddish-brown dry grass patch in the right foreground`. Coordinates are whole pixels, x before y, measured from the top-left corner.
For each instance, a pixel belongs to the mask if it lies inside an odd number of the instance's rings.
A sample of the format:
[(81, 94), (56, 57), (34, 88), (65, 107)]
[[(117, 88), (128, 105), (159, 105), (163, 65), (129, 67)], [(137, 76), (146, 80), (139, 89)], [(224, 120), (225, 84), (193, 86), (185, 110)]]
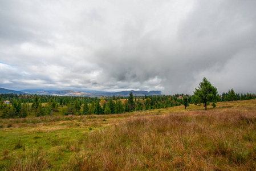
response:
[(75, 170), (255, 170), (255, 114), (200, 111), (131, 117), (84, 137), (84, 149), (68, 166)]

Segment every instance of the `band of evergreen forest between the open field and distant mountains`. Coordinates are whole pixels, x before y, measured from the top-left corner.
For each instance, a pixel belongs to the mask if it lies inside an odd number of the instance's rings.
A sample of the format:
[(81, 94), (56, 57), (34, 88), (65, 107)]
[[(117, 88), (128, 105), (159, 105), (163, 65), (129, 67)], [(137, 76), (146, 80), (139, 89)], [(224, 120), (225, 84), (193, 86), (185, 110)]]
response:
[[(128, 97), (78, 97), (78, 96), (50, 96), (50, 95), (0, 95), (0, 117), (25, 118), (52, 115), (108, 115), (123, 112), (147, 111), (197, 104), (193, 95), (159, 95), (159, 96), (134, 96), (132, 92)], [(217, 95), (210, 102), (235, 101), (255, 99), (255, 94), (235, 93), (233, 89)], [(5, 104), (5, 100), (10, 104)], [(201, 105), (201, 104), (198, 104)]]

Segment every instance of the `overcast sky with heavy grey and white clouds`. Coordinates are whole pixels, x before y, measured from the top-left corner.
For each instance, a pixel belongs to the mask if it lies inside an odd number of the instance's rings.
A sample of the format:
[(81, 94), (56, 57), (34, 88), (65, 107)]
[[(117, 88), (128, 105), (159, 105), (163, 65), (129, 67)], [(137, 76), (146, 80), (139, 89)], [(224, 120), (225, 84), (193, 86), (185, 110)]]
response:
[(256, 93), (255, 0), (0, 1), (0, 87)]

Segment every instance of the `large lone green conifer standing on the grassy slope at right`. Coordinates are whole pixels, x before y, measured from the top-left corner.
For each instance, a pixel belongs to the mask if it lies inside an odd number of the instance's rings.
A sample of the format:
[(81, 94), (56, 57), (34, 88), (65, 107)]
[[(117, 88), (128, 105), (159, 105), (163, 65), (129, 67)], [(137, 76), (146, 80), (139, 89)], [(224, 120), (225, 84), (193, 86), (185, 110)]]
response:
[(194, 98), (198, 103), (203, 103), (205, 110), (207, 110), (207, 105), (210, 101), (216, 99), (217, 93), (217, 88), (204, 78), (199, 84), (198, 89), (196, 88), (196, 91), (194, 91)]

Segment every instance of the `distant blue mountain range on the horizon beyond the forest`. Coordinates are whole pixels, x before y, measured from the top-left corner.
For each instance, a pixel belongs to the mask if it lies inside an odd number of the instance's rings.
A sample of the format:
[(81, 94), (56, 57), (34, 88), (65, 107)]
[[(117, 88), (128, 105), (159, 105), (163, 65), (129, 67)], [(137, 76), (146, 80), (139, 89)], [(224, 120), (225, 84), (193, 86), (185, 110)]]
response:
[(36, 94), (36, 95), (52, 95), (52, 96), (91, 96), (91, 97), (101, 97), (101, 96), (129, 96), (129, 93), (133, 96), (155, 96), (161, 95), (161, 91), (120, 91), (120, 92), (105, 92), (105, 91), (73, 91), (73, 90), (44, 90), (44, 89), (24, 89), (22, 91), (14, 91), (11, 89), (0, 88), (0, 93), (16, 93), (16, 94)]

